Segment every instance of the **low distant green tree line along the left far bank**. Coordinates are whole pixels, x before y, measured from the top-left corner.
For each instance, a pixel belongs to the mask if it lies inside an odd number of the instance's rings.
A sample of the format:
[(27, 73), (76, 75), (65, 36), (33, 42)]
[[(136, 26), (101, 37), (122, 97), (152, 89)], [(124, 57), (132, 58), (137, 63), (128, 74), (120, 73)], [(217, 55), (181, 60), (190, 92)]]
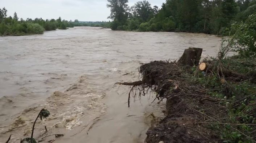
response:
[(92, 26), (109, 28), (110, 22), (79, 22), (77, 19), (73, 21), (58, 19), (42, 19), (42, 18), (19, 18), (15, 12), (12, 16), (7, 17), (7, 9), (0, 9), (0, 35), (20, 36), (28, 34), (42, 34), (44, 31), (50, 30), (66, 30), (68, 27), (74, 26)]

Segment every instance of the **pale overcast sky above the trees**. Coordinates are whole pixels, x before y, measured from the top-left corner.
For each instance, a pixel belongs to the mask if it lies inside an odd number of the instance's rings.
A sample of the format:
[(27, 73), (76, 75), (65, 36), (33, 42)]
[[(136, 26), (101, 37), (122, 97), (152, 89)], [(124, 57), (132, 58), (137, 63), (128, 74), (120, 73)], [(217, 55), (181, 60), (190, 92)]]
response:
[[(132, 6), (137, 1), (129, 0)], [(165, 0), (148, 0), (159, 8)], [(8, 16), (17, 12), (19, 18), (58, 18), (79, 21), (108, 21), (110, 10), (107, 0), (0, 0), (0, 8), (8, 10)]]

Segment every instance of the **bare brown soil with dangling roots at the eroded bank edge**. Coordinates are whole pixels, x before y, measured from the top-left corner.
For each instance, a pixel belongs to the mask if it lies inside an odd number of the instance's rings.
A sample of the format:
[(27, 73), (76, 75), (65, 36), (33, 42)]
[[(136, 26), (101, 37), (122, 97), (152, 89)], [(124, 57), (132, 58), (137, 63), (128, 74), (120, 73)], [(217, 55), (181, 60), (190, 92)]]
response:
[(133, 85), (131, 91), (139, 90), (139, 95), (152, 89), (157, 93), (156, 99), (167, 98), (166, 117), (147, 131), (147, 143), (222, 142), (218, 131), (200, 122), (226, 117), (226, 108), (219, 104), (224, 99), (211, 98), (203, 86), (189, 82), (187, 77), (194, 76), (190, 66), (154, 61), (143, 64), (139, 71), (143, 76), (141, 81), (122, 84)]

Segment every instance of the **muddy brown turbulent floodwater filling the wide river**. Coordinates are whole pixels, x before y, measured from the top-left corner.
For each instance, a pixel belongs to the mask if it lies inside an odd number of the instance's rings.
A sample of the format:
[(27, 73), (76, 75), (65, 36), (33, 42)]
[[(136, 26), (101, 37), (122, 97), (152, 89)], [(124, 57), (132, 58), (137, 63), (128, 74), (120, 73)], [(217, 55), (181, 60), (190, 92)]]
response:
[(129, 87), (118, 82), (136, 81), (140, 63), (175, 60), (188, 47), (216, 55), (220, 41), (198, 33), (93, 27), (0, 37), (0, 142), (9, 134), (11, 142), (29, 137), (43, 107), (51, 115), (38, 120), (37, 140), (64, 133), (55, 142), (143, 142), (164, 103), (151, 104), (151, 94), (135, 97), (128, 108)]

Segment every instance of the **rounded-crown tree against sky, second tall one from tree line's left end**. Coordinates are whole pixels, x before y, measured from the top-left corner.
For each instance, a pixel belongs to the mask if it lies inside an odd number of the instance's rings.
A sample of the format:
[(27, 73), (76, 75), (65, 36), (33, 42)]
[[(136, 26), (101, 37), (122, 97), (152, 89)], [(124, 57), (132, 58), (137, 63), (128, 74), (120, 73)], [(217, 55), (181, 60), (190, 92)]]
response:
[(156, 10), (146, 0), (137, 2), (131, 9), (133, 10), (134, 17), (139, 18), (142, 22), (149, 21), (154, 15), (154, 10)]

